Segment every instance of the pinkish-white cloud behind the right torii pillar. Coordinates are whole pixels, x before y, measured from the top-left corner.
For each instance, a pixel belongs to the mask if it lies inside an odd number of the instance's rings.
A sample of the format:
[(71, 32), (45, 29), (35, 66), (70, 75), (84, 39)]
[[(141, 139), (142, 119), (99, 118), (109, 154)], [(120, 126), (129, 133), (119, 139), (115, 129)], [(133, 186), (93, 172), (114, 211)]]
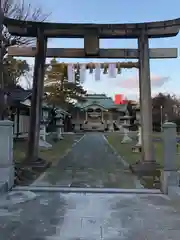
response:
[[(159, 76), (159, 75), (154, 75), (151, 74), (151, 86), (154, 88), (160, 88), (162, 87), (167, 81), (169, 81), (169, 77), (165, 76)], [(122, 87), (122, 88), (139, 88), (139, 76), (133, 76), (129, 78), (121, 78), (117, 82), (117, 86)]]

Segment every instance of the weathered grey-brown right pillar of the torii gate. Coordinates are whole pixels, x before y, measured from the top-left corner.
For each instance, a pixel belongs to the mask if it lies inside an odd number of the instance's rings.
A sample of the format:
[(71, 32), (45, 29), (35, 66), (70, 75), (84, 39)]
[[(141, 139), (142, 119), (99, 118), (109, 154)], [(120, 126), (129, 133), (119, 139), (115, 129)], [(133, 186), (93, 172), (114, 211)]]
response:
[(154, 162), (152, 141), (152, 100), (149, 63), (149, 40), (145, 30), (141, 30), (139, 47), (139, 86), (141, 106), (143, 161)]

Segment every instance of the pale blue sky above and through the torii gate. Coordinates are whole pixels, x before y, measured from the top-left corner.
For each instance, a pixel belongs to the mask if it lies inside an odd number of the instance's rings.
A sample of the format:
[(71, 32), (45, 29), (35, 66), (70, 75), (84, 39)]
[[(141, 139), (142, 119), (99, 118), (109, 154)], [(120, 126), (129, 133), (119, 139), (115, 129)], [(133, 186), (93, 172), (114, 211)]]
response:
[[(143, 21), (158, 21), (180, 17), (179, 0), (31, 0), (32, 4), (42, 6), (44, 12), (50, 13), (50, 22), (67, 23), (130, 23)], [(152, 39), (150, 47), (180, 46), (180, 34), (173, 38)], [(48, 47), (83, 47), (82, 39), (50, 39)], [(136, 40), (101, 40), (101, 48), (137, 48)], [(49, 61), (48, 59), (47, 61)], [(59, 59), (62, 62), (108, 62), (108, 59)], [(34, 60), (28, 59), (33, 65)], [(113, 61), (130, 61), (115, 59)], [(112, 62), (112, 60), (110, 60)], [(152, 94), (168, 92), (180, 95), (180, 61), (178, 59), (151, 60)], [(106, 93), (114, 96), (124, 94), (127, 98), (138, 99), (138, 71), (124, 69), (116, 79), (102, 75), (101, 81), (96, 82), (94, 76), (86, 74), (84, 87), (90, 92)]]

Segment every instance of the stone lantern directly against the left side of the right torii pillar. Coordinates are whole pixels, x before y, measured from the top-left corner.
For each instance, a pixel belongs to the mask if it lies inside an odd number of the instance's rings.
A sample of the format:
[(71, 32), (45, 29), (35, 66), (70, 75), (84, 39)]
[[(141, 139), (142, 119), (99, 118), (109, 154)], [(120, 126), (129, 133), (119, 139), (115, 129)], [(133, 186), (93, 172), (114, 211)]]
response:
[(141, 111), (140, 107), (136, 108), (136, 123), (138, 125), (138, 141), (136, 145), (132, 148), (133, 152), (141, 152), (142, 151), (142, 128), (141, 128)]

